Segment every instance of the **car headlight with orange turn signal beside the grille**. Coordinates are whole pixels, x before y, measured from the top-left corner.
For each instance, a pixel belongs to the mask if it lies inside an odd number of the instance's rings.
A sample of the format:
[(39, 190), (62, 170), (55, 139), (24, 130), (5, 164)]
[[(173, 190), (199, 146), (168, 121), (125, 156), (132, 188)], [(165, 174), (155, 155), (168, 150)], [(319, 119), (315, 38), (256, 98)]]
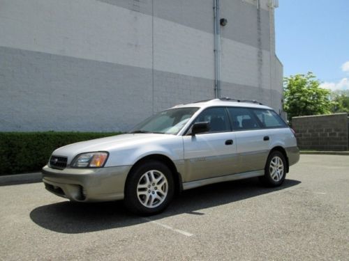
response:
[(101, 168), (107, 161), (108, 152), (89, 152), (77, 155), (70, 166), (72, 168)]

